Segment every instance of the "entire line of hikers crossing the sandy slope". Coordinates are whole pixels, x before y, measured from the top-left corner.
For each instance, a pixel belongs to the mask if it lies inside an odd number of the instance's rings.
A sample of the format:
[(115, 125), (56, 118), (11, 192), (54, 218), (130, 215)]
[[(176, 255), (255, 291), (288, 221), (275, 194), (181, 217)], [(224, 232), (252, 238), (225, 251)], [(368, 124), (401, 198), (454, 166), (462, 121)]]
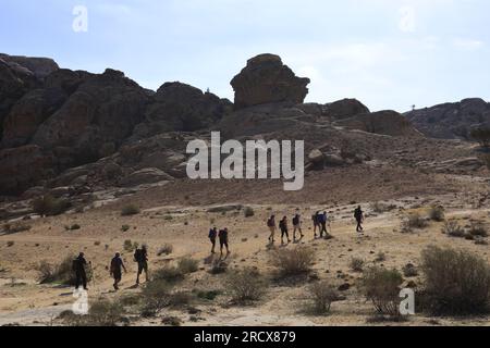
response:
[[(357, 223), (356, 232), (363, 233), (364, 232), (363, 222), (364, 222), (365, 216), (364, 216), (364, 212), (363, 212), (360, 206), (355, 209), (354, 219), (356, 220), (356, 223)], [(318, 236), (320, 238), (329, 238), (330, 237), (330, 233), (327, 228), (327, 226), (329, 225), (330, 219), (329, 219), (327, 211), (324, 211), (324, 212), (317, 211), (311, 216), (311, 221), (313, 221), (313, 225), (314, 225), (314, 234), (315, 234), (314, 238), (315, 239), (318, 238)], [(302, 216), (299, 214), (295, 214), (293, 216), (292, 223), (293, 223), (293, 240), (296, 241), (296, 240), (303, 239), (305, 237), (305, 235), (303, 234), (303, 228), (302, 228), (302, 225), (303, 225)], [(275, 243), (275, 233), (277, 233), (277, 226), (278, 226), (278, 224), (275, 222), (275, 215), (272, 215), (272, 216), (270, 216), (270, 219), (268, 219), (267, 226), (269, 227), (269, 231), (270, 231), (269, 243), (273, 245)], [(286, 238), (287, 243), (291, 243), (287, 216), (284, 216), (279, 222), (279, 229), (281, 231), (282, 245), (284, 245), (284, 237)], [(299, 238), (296, 238), (296, 233), (299, 233)], [(209, 231), (208, 238), (211, 243), (211, 253), (212, 254), (216, 253), (217, 239), (220, 243), (221, 256), (223, 256), (223, 249), (226, 249), (226, 254), (230, 254), (229, 229), (228, 228), (218, 231), (217, 227), (212, 227)], [(136, 285), (139, 285), (139, 277), (143, 273), (145, 273), (146, 281), (148, 282), (148, 248), (147, 248), (147, 246), (143, 245), (140, 248), (136, 248), (133, 257), (134, 257), (134, 261), (138, 265), (138, 271), (137, 271), (137, 275), (136, 275)], [(78, 257), (75, 260), (73, 260), (73, 264), (72, 264), (72, 269), (73, 269), (73, 272), (75, 275), (76, 289), (78, 289), (81, 286), (83, 286), (83, 288), (85, 290), (88, 289), (87, 288), (87, 272), (86, 272), (87, 268), (91, 269), (91, 263), (87, 262), (87, 260), (85, 259), (84, 252), (81, 252), (78, 254)], [(113, 284), (114, 290), (119, 290), (119, 284), (121, 283), (123, 271), (124, 271), (124, 273), (127, 273), (127, 269), (121, 258), (121, 253), (117, 252), (110, 263), (110, 275), (114, 279), (114, 284)]]

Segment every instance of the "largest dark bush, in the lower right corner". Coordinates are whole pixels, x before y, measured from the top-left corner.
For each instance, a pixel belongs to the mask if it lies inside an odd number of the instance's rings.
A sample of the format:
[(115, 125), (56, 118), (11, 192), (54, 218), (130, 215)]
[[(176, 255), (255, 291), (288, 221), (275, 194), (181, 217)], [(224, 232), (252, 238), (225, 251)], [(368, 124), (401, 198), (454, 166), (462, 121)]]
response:
[(424, 309), (434, 315), (489, 312), (490, 266), (468, 251), (429, 247), (422, 252)]

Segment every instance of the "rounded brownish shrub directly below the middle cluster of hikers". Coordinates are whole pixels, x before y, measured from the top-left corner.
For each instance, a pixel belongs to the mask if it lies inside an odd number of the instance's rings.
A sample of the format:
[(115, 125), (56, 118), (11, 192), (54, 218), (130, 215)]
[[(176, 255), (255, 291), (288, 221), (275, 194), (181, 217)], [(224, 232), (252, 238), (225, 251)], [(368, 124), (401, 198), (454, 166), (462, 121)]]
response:
[(301, 275), (310, 272), (315, 251), (306, 247), (277, 250), (272, 253), (272, 264), (283, 276)]

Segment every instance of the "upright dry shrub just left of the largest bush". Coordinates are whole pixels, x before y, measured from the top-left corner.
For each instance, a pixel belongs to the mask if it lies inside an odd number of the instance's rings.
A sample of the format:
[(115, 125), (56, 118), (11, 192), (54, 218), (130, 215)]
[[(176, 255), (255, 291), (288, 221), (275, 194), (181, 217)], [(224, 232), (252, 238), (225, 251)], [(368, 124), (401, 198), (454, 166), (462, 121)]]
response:
[(403, 276), (396, 270), (371, 268), (363, 278), (366, 298), (372, 302), (378, 314), (399, 316), (400, 287)]

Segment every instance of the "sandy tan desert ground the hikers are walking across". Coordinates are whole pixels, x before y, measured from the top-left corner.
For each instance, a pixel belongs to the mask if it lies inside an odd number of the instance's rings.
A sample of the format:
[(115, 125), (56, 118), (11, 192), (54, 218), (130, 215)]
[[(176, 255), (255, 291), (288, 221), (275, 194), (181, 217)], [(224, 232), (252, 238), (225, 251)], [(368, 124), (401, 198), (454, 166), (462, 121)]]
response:
[[(36, 266), (44, 260), (57, 264), (78, 251), (86, 253), (95, 271), (95, 281), (89, 284), (89, 301), (98, 298), (118, 300), (138, 294), (139, 288), (134, 286), (136, 264), (133, 253), (123, 248), (126, 239), (149, 246), (150, 270), (173, 264), (185, 256), (199, 260), (198, 272), (191, 274), (180, 288), (194, 293), (217, 290), (219, 294), (213, 300), (196, 298), (192, 306), (164, 310), (151, 320), (128, 314), (133, 325), (162, 325), (162, 318), (168, 316), (179, 318), (182, 325), (385, 325), (369, 322), (373, 309), (358, 289), (362, 273), (351, 270), (352, 258), (365, 260), (365, 268), (383, 265), (402, 270), (407, 263), (418, 265), (425, 247), (439, 245), (471, 250), (489, 260), (488, 245), (451, 238), (441, 233), (442, 223), (431, 222), (425, 229), (401, 233), (403, 217), (412, 212), (424, 215), (434, 206), (444, 207), (446, 219), (456, 219), (463, 225), (470, 220), (488, 223), (490, 207), (481, 199), (488, 185), (483, 176), (431, 175), (430, 179), (420, 179), (419, 176), (424, 176), (421, 173), (408, 173), (406, 177), (395, 173), (400, 179), (406, 178), (406, 183), (397, 188), (390, 181), (385, 181), (391, 184), (384, 186), (377, 183), (377, 175), (369, 176), (369, 179), (354, 178), (366, 170), (369, 169), (359, 167), (350, 172), (353, 177), (334, 171), (314, 173), (308, 177), (306, 189), (292, 196), (279, 189), (280, 183), (184, 182), (106, 201), (101, 207), (83, 213), (29, 221), (30, 231), (0, 236), (0, 324), (62, 324), (57, 316), (71, 309), (74, 301), (72, 289), (39, 285)], [(380, 177), (387, 175), (389, 173), (383, 172)], [(298, 204), (298, 201), (311, 201), (311, 204)], [(121, 216), (121, 208), (130, 202), (140, 207), (142, 212), (134, 216)], [(393, 209), (377, 213), (373, 211), (375, 202), (393, 206)], [(357, 203), (363, 204), (367, 214), (364, 235), (355, 232), (352, 212)], [(235, 209), (217, 213), (208, 211), (212, 207), (230, 204), (250, 207), (255, 215), (245, 217), (243, 210)], [(314, 239), (310, 216), (315, 211), (324, 209), (332, 219), (330, 233), (334, 238)], [(219, 257), (209, 253), (209, 227), (230, 228), (232, 253), (226, 260), (228, 272), (255, 266), (266, 278), (272, 278), (271, 252), (296, 245), (281, 246), (277, 243), (273, 247), (269, 246), (267, 217), (274, 213), (291, 219), (297, 211), (303, 216), (305, 229), (305, 238), (298, 244), (313, 248), (316, 253), (313, 275), (294, 284), (268, 282), (270, 285), (257, 303), (245, 307), (230, 303), (224, 289), (225, 275), (208, 272), (212, 259)], [(65, 231), (64, 226), (73, 224), (78, 224), (81, 229)], [(123, 225), (130, 226), (128, 231), (122, 232)], [(164, 244), (171, 244), (173, 252), (158, 257), (157, 252)], [(108, 272), (108, 264), (115, 251), (122, 251), (130, 271), (123, 276), (119, 293), (112, 290)], [(376, 261), (380, 252), (385, 254), (384, 261)], [(342, 293), (344, 299), (332, 304), (329, 315), (314, 315), (307, 311), (307, 287), (311, 279), (317, 278), (328, 279), (335, 286), (350, 285)], [(405, 283), (411, 281), (421, 282), (417, 276), (406, 278)], [(433, 319), (417, 314), (406, 322), (389, 324), (489, 323), (489, 318)]]

